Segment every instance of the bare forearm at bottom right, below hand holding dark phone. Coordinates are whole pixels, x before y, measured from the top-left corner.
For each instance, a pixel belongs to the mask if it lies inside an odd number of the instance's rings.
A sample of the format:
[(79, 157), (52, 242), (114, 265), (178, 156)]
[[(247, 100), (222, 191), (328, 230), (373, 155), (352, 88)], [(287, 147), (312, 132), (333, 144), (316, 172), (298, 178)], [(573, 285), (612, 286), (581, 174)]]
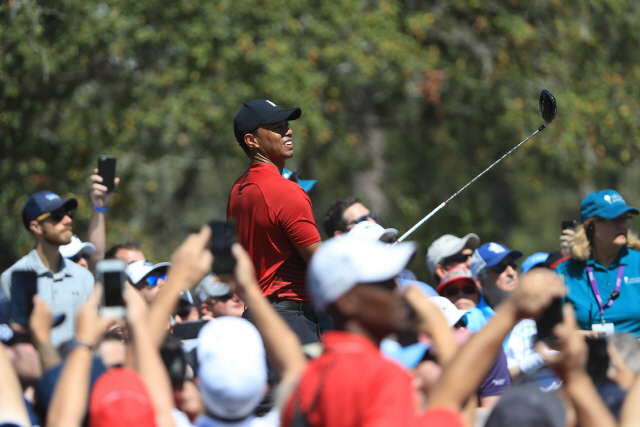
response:
[[(573, 403), (581, 427), (615, 427), (615, 418), (609, 412), (591, 378), (580, 372), (572, 378), (563, 378), (564, 388)], [(630, 396), (627, 396), (627, 399)], [(622, 424), (624, 425), (624, 424)], [(639, 425), (630, 424), (631, 425)]]

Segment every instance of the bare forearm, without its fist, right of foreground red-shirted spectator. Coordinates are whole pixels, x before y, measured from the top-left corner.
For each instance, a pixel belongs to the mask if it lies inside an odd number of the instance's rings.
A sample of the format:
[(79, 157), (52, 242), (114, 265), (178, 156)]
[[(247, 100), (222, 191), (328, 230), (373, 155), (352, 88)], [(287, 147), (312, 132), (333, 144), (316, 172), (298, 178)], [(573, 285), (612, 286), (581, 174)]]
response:
[[(505, 301), (489, 323), (473, 335), (445, 367), (430, 393), (429, 406), (459, 410), (482, 383), (517, 320), (515, 309)], [(479, 354), (482, 357), (478, 357)]]

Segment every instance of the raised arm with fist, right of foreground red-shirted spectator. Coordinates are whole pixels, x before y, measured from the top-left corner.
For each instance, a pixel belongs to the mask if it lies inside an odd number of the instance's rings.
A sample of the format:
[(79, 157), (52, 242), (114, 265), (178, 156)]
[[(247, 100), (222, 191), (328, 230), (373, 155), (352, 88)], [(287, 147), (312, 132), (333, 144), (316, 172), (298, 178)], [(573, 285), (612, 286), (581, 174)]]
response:
[[(537, 318), (553, 298), (564, 293), (561, 279), (549, 270), (534, 269), (522, 276), (520, 285), (497, 308), (495, 316), (458, 350), (445, 367), (432, 389), (429, 406), (460, 410), (480, 386), (516, 322)], [(482, 357), (478, 357), (479, 354)]]

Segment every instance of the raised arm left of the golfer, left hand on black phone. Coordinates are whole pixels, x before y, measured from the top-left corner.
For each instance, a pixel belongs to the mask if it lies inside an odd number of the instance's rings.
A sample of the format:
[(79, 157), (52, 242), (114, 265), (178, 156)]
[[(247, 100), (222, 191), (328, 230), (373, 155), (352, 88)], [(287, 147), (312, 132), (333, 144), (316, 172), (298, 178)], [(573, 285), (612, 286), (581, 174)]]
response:
[(166, 325), (175, 310), (180, 292), (195, 286), (211, 272), (213, 255), (209, 251), (211, 229), (204, 226), (191, 234), (171, 256), (167, 281), (158, 292), (149, 310), (148, 334), (159, 348), (167, 333)]

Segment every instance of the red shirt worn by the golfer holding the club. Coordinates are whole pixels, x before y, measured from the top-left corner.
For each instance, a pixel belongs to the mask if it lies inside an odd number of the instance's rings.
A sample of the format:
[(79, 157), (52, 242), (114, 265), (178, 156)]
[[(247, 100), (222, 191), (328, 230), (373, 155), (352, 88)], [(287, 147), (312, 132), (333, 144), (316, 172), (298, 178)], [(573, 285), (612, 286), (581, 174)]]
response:
[(238, 241), (249, 252), (265, 296), (309, 301), (307, 265), (296, 248), (320, 241), (311, 199), (266, 163), (252, 163), (233, 185), (227, 217), (238, 223)]

